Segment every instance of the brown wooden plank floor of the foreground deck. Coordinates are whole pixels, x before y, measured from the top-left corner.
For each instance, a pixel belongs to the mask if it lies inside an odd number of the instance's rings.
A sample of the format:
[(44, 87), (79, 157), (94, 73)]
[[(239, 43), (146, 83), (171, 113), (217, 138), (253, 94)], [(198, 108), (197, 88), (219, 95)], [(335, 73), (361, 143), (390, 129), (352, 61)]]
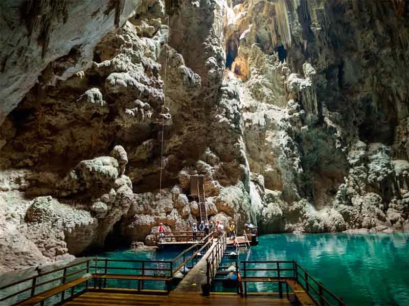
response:
[(171, 300), (163, 295), (127, 294), (108, 292), (85, 292), (75, 297), (72, 301), (62, 305), (70, 306), (289, 306), (291, 302), (287, 298), (278, 298), (277, 295), (254, 295), (247, 298), (237, 294), (215, 293), (210, 296), (202, 296), (189, 292), (175, 294)]

